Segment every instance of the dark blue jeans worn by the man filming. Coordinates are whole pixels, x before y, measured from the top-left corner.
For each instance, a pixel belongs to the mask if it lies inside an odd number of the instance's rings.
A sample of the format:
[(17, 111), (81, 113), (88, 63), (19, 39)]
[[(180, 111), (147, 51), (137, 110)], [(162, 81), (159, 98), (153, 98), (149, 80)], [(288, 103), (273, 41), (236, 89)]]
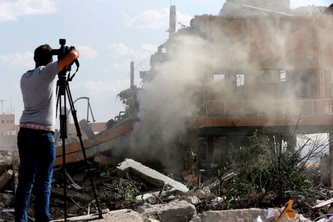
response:
[(35, 222), (49, 222), (49, 199), (56, 148), (53, 133), (20, 128), (17, 135), (20, 157), (15, 194), (15, 222), (28, 222), (31, 189), (36, 191)]

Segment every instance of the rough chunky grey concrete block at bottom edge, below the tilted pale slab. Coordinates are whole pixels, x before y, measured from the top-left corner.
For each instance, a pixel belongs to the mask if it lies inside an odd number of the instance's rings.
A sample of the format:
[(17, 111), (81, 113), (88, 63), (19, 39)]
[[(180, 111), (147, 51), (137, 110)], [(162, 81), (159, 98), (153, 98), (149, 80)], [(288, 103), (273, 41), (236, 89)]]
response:
[(186, 201), (173, 201), (168, 204), (142, 206), (138, 207), (136, 212), (143, 218), (161, 219), (167, 222), (181, 222), (184, 217), (187, 217), (187, 220), (191, 220), (197, 215), (195, 206)]

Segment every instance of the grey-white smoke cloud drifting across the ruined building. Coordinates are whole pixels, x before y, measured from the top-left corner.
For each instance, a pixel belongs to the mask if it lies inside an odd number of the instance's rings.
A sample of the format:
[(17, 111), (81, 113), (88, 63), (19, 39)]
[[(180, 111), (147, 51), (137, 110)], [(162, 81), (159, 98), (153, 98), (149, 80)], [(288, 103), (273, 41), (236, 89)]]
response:
[[(191, 121), (241, 115), (299, 115), (315, 98), (314, 21), (212, 17), (196, 21), (196, 35), (175, 35), (138, 94), (139, 122), (131, 153), (165, 167), (182, 158), (178, 136)], [(266, 72), (266, 73), (265, 73)], [(268, 72), (268, 73), (267, 73)], [(280, 101), (280, 102), (277, 102)], [(223, 109), (225, 106), (227, 109)], [(207, 107), (206, 107), (207, 104)]]

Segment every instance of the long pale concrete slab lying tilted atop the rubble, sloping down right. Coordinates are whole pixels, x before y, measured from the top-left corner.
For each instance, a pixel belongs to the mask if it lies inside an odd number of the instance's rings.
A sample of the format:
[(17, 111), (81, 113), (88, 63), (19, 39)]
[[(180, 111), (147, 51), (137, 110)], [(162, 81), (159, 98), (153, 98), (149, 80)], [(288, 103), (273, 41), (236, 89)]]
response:
[(119, 164), (119, 166), (117, 166), (117, 169), (123, 173), (132, 172), (156, 187), (161, 187), (163, 184), (166, 184), (182, 192), (187, 192), (189, 190), (184, 184), (177, 182), (170, 177), (157, 172), (156, 170), (144, 166), (133, 159), (125, 159)]

